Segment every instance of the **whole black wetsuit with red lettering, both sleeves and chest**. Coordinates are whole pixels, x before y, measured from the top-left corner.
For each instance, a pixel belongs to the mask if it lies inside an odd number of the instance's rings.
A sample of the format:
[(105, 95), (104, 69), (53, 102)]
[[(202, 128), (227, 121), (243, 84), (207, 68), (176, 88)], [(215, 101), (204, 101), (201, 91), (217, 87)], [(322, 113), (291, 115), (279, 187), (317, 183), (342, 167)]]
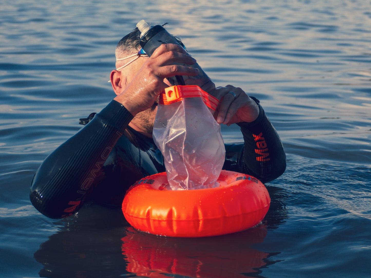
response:
[[(254, 99), (257, 103), (258, 101)], [(276, 130), (259, 105), (252, 123), (239, 123), (244, 144), (226, 144), (223, 169), (263, 183), (280, 176), (286, 156)], [(127, 189), (165, 166), (153, 139), (128, 127), (133, 116), (112, 100), (78, 133), (44, 160), (31, 184), (30, 200), (50, 218), (63, 218), (94, 198), (121, 205)]]

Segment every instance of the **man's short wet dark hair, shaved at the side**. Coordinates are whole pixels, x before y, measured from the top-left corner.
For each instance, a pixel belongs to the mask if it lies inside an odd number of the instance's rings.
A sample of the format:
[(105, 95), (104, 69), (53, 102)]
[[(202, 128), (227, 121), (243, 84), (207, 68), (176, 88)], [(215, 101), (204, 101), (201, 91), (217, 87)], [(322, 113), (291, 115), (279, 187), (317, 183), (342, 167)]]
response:
[[(165, 26), (168, 23), (162, 24), (161, 26)], [(137, 27), (132, 30), (129, 34), (127, 34), (125, 37), (123, 37), (116, 46), (116, 59), (123, 58), (124, 56), (134, 54), (141, 49), (141, 46), (139, 45), (140, 41), (140, 34), (141, 32)], [(181, 40), (178, 37), (175, 37), (175, 39), (178, 40), (178, 42), (183, 45)]]

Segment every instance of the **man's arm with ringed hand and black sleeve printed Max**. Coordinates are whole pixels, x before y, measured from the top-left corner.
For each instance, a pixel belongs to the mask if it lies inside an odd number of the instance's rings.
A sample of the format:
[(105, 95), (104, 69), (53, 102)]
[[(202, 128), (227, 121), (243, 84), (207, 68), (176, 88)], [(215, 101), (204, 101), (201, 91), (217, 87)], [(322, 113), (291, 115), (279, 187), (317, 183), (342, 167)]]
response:
[[(233, 92), (229, 93), (229, 92)], [(238, 87), (217, 87), (220, 103), (214, 117), (218, 123), (241, 127), (244, 148), (227, 145), (224, 169), (255, 176), (263, 183), (276, 179), (286, 169), (281, 140), (255, 97)]]

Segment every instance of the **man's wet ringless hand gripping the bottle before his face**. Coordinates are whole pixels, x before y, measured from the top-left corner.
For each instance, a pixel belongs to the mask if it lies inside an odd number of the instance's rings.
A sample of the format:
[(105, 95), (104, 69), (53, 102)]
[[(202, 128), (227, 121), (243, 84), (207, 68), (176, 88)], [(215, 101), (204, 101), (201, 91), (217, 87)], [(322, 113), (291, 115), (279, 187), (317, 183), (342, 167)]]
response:
[(135, 116), (150, 108), (158, 95), (170, 86), (164, 82), (166, 77), (198, 75), (198, 69), (174, 63), (191, 65), (196, 63), (196, 60), (177, 44), (162, 44), (150, 58), (145, 59), (134, 78), (128, 80), (128, 86), (114, 100), (124, 105)]

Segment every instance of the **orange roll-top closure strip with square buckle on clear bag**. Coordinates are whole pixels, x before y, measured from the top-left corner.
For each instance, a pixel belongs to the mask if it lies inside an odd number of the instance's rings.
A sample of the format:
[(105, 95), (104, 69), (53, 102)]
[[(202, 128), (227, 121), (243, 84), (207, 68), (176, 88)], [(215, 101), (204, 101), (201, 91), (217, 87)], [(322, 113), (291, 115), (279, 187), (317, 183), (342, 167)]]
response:
[(202, 90), (197, 85), (177, 85), (165, 88), (165, 92), (160, 94), (159, 103), (168, 105), (179, 102), (186, 97), (201, 97), (203, 102), (212, 110), (215, 110), (219, 104), (216, 97)]

